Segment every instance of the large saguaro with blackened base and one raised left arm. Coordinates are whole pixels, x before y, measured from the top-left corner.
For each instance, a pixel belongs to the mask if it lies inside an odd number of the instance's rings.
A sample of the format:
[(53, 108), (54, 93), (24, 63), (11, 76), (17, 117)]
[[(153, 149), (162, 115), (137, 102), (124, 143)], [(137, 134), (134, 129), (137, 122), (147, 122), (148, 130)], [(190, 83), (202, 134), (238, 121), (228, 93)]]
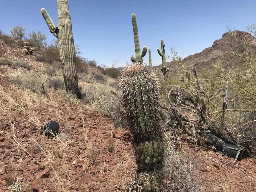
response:
[(50, 32), (59, 39), (59, 55), (62, 63), (66, 91), (76, 94), (79, 98), (78, 78), (75, 66), (76, 53), (68, 1), (57, 0), (57, 6), (59, 20), (57, 26), (54, 25), (44, 8), (41, 9), (41, 13)]

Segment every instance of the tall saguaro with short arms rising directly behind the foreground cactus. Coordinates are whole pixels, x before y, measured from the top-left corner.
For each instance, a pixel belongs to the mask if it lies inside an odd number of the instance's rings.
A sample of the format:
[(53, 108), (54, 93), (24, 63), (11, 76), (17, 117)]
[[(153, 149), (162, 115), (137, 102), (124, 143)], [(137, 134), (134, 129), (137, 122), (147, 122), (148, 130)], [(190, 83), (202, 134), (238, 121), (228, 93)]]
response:
[(133, 13), (132, 14), (132, 22), (133, 22), (133, 35), (134, 35), (134, 44), (135, 44), (135, 58), (131, 56), (131, 61), (133, 63), (142, 63), (144, 57), (147, 53), (147, 47), (144, 46), (142, 49), (141, 53), (141, 48), (140, 48), (140, 42), (139, 42), (139, 33), (138, 33), (138, 26), (137, 26), (137, 20), (136, 20), (136, 15)]

